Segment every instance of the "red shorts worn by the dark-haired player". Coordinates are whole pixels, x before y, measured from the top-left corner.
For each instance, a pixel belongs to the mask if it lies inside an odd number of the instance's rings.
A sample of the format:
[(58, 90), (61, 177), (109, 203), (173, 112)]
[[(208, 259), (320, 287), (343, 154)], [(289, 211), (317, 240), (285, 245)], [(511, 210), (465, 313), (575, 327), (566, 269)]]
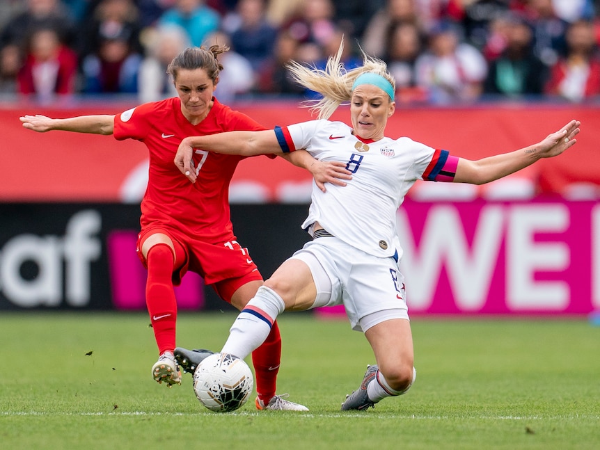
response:
[(204, 279), (205, 284), (212, 285), (223, 300), (231, 303), (231, 296), (239, 287), (251, 281), (262, 281), (262, 275), (248, 254), (248, 249), (240, 246), (235, 236), (232, 235), (229, 241), (207, 243), (190, 239), (186, 234), (164, 226), (147, 228), (138, 235), (136, 252), (145, 268), (148, 265), (141, 248), (144, 241), (156, 233), (166, 234), (184, 250), (184, 262), (173, 271), (175, 286), (181, 283), (187, 271), (195, 272)]

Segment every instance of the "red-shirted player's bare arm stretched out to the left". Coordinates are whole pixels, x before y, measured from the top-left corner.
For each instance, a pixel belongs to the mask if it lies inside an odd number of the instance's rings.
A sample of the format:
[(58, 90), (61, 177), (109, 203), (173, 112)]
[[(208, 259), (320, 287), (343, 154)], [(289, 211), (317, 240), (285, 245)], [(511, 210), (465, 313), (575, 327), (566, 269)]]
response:
[(114, 115), (79, 115), (74, 118), (52, 119), (45, 115), (24, 115), (19, 118), (23, 127), (39, 133), (62, 130), (77, 133), (113, 134)]

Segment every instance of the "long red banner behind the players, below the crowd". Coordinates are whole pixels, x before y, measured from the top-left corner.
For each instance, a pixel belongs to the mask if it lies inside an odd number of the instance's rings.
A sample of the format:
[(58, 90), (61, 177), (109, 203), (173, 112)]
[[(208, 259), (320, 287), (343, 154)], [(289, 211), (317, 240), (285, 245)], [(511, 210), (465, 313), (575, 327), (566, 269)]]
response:
[[(143, 144), (110, 136), (52, 131), (35, 134), (23, 129), (19, 116), (43, 113), (51, 117), (116, 114), (131, 104), (102, 104), (71, 109), (41, 106), (3, 106), (0, 109), (0, 201), (137, 202), (145, 189), (147, 151)], [(310, 120), (307, 109), (291, 103), (239, 104), (265, 127)], [(573, 105), (494, 104), (461, 109), (398, 108), (386, 134), (409, 136), (432, 147), (450, 150), (468, 159), (525, 147), (562, 127), (581, 120), (578, 144), (558, 158), (539, 161), (508, 180), (482, 189), (418, 184), (417, 198), (531, 198), (536, 193), (573, 193), (593, 197), (600, 186), (600, 109)], [(348, 122), (345, 107), (333, 115)], [(575, 184), (576, 183), (576, 184)], [(423, 186), (422, 186), (423, 185)], [(431, 190), (434, 190), (432, 192)], [(583, 194), (582, 194), (583, 193)], [(310, 175), (283, 159), (243, 161), (231, 188), (237, 202), (305, 202), (310, 198)]]

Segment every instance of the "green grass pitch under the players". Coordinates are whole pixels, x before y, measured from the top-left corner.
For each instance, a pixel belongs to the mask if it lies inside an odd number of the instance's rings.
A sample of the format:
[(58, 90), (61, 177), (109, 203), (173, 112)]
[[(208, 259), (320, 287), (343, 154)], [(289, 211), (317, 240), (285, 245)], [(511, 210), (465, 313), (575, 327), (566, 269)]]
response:
[[(218, 350), (235, 316), (180, 314), (178, 343)], [(372, 353), (347, 321), (280, 317), (278, 392), (310, 412), (203, 408), (167, 389), (146, 314), (0, 315), (0, 448), (600, 449), (600, 327), (584, 319), (413, 317), (404, 396), (341, 412)]]

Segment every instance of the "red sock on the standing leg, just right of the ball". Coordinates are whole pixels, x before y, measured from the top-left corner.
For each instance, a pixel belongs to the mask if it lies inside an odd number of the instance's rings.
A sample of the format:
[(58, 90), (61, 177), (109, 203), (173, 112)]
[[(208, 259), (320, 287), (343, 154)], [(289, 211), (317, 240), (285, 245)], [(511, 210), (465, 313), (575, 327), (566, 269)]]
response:
[(265, 342), (252, 352), (258, 398), (268, 403), (275, 395), (277, 373), (281, 363), (281, 335), (275, 321)]

